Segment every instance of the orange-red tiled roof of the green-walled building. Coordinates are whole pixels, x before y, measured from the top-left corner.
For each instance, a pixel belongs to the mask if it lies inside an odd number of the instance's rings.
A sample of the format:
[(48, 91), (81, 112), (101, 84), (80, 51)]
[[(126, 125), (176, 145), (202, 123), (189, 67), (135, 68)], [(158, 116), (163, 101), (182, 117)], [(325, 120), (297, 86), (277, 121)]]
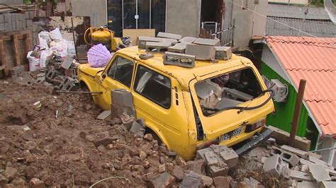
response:
[(267, 45), (298, 88), (323, 134), (336, 135), (336, 38), (267, 37)]

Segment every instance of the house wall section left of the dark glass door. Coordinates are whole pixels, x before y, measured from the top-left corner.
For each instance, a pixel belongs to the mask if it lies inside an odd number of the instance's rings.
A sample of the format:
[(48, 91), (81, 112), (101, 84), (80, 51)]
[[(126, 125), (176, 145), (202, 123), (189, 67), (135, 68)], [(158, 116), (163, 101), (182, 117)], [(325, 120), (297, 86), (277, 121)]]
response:
[(107, 24), (106, 0), (72, 0), (71, 5), (72, 16), (90, 16), (91, 26), (94, 27), (94, 13), (96, 13), (96, 27)]

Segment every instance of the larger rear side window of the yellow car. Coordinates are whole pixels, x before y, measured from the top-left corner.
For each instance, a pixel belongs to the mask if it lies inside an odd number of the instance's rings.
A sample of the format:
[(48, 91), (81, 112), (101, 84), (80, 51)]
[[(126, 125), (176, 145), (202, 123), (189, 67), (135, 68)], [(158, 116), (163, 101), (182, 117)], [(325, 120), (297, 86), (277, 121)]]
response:
[(134, 90), (166, 109), (172, 103), (172, 84), (170, 79), (145, 66), (138, 66)]

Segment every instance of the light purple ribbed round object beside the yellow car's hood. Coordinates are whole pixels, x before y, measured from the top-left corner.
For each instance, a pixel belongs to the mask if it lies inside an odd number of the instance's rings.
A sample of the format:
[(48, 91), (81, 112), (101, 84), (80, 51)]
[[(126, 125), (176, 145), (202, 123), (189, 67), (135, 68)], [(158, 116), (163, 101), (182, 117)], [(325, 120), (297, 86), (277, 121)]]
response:
[(104, 45), (94, 45), (87, 52), (87, 61), (91, 67), (104, 67), (111, 60), (112, 55)]

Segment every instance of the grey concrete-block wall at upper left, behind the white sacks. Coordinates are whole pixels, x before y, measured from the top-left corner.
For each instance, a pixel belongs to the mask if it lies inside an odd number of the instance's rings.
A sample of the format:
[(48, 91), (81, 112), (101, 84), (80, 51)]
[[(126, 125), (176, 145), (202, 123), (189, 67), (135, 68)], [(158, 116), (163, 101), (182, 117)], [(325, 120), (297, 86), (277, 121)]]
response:
[(34, 13), (34, 11), (26, 11), (25, 13), (0, 13), (0, 33), (30, 30), (33, 35), (33, 44), (37, 44), (38, 30), (36, 26), (33, 26)]

